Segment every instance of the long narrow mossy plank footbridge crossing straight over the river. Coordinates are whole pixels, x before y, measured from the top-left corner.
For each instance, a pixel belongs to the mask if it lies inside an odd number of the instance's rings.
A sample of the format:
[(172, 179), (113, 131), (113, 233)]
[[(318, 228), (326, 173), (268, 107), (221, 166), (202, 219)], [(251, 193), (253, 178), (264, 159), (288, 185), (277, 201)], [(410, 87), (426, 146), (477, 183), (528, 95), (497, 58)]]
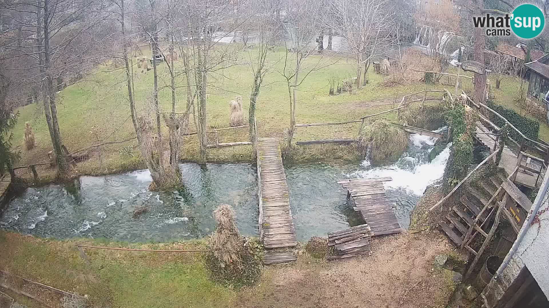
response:
[(265, 248), (294, 247), (294, 221), (279, 140), (257, 139), (259, 237)]

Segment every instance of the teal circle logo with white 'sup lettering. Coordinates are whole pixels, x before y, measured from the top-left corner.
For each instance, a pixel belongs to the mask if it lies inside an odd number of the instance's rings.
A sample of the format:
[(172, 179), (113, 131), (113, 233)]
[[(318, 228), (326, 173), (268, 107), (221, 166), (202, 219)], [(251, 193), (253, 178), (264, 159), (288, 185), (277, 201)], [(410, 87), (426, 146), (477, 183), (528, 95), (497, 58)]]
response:
[(520, 38), (539, 36), (545, 27), (545, 16), (534, 4), (520, 4), (513, 10), (511, 28)]

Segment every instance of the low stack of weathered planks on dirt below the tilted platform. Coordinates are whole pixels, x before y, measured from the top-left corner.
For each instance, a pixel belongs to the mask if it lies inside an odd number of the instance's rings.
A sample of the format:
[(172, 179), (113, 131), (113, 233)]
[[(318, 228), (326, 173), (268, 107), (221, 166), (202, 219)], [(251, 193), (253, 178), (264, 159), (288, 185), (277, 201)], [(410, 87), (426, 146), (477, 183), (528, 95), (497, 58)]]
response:
[(369, 255), (371, 253), (369, 238), (373, 234), (368, 224), (328, 232), (328, 246), (334, 247), (335, 255), (328, 256), (327, 259), (335, 260), (363, 254)]

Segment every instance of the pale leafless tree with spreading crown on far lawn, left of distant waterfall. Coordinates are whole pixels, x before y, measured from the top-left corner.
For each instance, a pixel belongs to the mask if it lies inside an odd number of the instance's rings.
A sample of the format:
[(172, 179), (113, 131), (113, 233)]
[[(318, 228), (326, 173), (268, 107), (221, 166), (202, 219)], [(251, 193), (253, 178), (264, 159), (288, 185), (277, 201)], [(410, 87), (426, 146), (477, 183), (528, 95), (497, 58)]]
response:
[(389, 0), (337, 0), (334, 31), (343, 36), (356, 58), (356, 85), (360, 89), (362, 66), (366, 76), (369, 62), (395, 44), (396, 15)]

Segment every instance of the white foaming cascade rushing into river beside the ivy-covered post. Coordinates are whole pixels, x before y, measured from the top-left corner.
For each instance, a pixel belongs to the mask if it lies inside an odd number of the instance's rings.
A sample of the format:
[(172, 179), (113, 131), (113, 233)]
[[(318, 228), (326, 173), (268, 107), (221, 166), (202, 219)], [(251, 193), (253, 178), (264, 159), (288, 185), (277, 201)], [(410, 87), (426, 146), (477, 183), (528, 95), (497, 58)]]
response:
[[(440, 132), (436, 130), (435, 132)], [(410, 149), (399, 161), (383, 167), (357, 171), (360, 178), (379, 178), (390, 176), (392, 181), (384, 182), (386, 189), (404, 189), (408, 193), (422, 196), (427, 186), (442, 178), (446, 162), (450, 156), (450, 145), (429, 162), (427, 154), (433, 149), (434, 138), (425, 135), (411, 134)], [(362, 162), (363, 167), (370, 166), (369, 161)]]

